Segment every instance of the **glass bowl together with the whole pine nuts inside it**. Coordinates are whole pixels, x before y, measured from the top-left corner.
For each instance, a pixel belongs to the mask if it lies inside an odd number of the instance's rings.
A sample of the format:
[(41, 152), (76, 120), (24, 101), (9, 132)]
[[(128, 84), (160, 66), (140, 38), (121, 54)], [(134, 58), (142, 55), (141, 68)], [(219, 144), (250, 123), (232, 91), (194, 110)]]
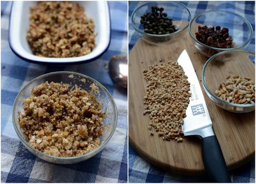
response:
[(203, 67), (206, 94), (232, 113), (255, 110), (255, 54), (230, 50), (215, 54)]

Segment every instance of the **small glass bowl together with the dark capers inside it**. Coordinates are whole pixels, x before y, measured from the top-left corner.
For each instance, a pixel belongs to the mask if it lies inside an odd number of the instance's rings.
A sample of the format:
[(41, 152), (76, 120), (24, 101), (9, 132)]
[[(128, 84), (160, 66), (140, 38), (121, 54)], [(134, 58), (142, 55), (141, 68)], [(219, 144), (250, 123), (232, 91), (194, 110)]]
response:
[(147, 43), (169, 45), (178, 41), (188, 28), (191, 13), (179, 2), (148, 2), (131, 15), (132, 27)]

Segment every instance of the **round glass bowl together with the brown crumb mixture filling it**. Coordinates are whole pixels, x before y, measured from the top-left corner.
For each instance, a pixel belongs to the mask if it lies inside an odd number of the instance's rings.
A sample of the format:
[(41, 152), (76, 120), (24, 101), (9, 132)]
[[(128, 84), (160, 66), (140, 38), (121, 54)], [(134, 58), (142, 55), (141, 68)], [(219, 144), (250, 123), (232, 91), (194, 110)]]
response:
[(95, 79), (57, 71), (38, 76), (19, 91), (12, 120), (19, 140), (32, 154), (71, 164), (104, 149), (116, 128), (117, 109), (109, 91)]

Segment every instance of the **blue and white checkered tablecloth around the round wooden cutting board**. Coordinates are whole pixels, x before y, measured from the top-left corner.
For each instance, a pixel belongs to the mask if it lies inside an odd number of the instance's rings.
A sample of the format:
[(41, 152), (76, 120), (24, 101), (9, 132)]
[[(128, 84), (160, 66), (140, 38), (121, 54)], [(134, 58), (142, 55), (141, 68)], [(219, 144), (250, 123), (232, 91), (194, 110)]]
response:
[[(129, 50), (132, 49), (134, 44), (140, 38), (131, 25), (131, 14), (137, 6), (145, 2), (129, 2)], [(255, 2), (196, 2), (184, 1), (181, 2), (190, 9), (191, 16), (210, 10), (210, 9), (224, 9), (225, 11), (234, 12), (245, 17), (253, 27), (253, 39), (246, 48), (250, 52), (255, 53)], [(232, 182), (255, 182), (255, 159), (244, 166), (232, 171)], [(156, 167), (150, 165), (142, 159), (137, 153), (129, 146), (129, 182), (207, 182), (208, 178), (181, 176), (175, 175), (170, 172), (163, 172)]]

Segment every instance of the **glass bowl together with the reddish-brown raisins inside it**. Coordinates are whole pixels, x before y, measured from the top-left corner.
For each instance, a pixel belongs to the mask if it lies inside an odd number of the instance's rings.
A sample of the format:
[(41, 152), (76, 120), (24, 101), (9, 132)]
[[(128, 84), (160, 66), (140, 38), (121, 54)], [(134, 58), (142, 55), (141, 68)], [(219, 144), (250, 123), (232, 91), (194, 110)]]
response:
[(206, 57), (225, 50), (243, 49), (253, 37), (252, 25), (242, 16), (227, 11), (205, 11), (189, 24), (189, 35)]

